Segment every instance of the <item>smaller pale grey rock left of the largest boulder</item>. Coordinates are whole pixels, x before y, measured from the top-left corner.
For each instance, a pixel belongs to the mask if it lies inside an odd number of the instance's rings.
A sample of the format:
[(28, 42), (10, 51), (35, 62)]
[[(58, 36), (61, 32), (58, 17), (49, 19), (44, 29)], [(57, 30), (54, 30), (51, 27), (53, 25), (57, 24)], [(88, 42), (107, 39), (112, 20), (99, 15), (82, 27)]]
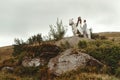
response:
[(22, 61), (22, 65), (24, 67), (33, 67), (33, 66), (37, 67), (40, 65), (44, 65), (44, 60), (40, 58), (33, 58), (33, 59), (26, 58)]

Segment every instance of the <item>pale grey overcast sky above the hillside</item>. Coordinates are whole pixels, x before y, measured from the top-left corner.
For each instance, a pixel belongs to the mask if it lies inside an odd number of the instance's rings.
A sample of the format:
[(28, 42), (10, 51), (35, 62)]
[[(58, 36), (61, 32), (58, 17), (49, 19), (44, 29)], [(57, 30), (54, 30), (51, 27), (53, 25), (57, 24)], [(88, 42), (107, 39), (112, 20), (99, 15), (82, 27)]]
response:
[(120, 0), (0, 0), (0, 46), (12, 45), (14, 38), (47, 35), (57, 18), (72, 36), (69, 19), (78, 16), (93, 32), (120, 32)]

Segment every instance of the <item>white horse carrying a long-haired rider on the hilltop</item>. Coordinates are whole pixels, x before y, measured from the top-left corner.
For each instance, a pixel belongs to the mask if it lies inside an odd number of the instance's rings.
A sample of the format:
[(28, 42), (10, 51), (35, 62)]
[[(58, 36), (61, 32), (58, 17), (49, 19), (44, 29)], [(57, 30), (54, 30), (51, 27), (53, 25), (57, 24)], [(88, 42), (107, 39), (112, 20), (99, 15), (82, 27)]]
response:
[[(83, 35), (83, 29), (82, 29), (81, 25), (78, 25), (78, 26), (80, 26), (78, 29), (78, 27), (76, 26), (76, 23), (74, 23), (73, 19), (69, 20), (69, 25), (72, 27), (72, 32), (73, 32), (74, 36)], [(78, 33), (78, 31), (79, 31), (79, 33)], [(87, 32), (87, 38), (91, 39), (92, 29), (86, 29), (86, 32)]]

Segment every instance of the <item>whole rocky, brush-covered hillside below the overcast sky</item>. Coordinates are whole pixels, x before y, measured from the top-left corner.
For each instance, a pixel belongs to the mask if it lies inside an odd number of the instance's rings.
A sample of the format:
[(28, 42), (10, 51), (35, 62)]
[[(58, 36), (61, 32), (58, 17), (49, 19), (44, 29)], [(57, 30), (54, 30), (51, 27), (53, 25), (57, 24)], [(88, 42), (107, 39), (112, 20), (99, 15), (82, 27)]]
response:
[[(0, 47), (0, 80), (119, 80), (120, 32), (98, 34), (107, 40), (67, 37), (37, 46), (18, 44), (15, 57), (13, 46)], [(57, 76), (59, 71), (65, 73)]]

